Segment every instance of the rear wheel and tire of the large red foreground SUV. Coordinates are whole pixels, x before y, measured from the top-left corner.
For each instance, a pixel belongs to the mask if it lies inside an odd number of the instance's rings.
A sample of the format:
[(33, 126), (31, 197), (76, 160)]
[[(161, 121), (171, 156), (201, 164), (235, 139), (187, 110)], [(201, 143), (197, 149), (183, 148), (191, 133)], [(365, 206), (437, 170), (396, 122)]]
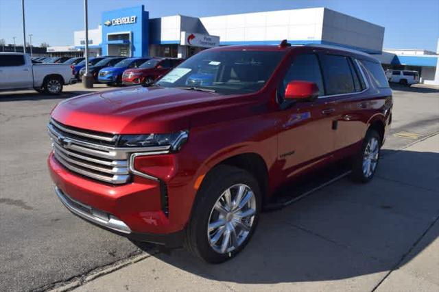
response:
[(364, 137), (361, 150), (353, 159), (351, 179), (357, 183), (368, 183), (375, 176), (381, 150), (381, 136), (369, 129)]

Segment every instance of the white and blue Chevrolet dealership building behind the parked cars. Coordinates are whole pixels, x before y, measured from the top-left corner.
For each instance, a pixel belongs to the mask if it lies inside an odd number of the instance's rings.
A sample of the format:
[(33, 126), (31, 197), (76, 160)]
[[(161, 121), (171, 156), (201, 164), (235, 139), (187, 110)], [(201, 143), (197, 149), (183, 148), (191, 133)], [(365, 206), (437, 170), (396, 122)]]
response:
[[(233, 44), (330, 44), (378, 57), (385, 68), (413, 69), (421, 81), (439, 85), (438, 54), (423, 50), (383, 51), (384, 27), (327, 8), (222, 16), (150, 18), (143, 5), (102, 13), (88, 30), (91, 55), (190, 57), (206, 48)], [(85, 31), (74, 32), (83, 51)]]

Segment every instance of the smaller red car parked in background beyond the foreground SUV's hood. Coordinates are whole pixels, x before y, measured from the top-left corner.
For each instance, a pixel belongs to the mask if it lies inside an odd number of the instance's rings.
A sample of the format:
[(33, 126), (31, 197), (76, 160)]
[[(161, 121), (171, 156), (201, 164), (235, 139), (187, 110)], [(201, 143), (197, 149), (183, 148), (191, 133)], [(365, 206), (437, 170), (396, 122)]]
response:
[(123, 72), (123, 85), (147, 85), (158, 77), (165, 75), (169, 70), (178, 66), (183, 59), (158, 58), (150, 59), (139, 68), (127, 69)]

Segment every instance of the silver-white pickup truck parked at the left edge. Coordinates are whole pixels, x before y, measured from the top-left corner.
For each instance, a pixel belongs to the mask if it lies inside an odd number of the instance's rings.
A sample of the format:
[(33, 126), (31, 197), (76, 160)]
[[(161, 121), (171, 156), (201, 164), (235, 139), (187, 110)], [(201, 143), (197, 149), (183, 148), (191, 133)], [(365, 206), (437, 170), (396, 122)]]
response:
[(47, 94), (62, 92), (75, 83), (69, 64), (32, 64), (29, 55), (0, 53), (0, 91), (32, 89)]

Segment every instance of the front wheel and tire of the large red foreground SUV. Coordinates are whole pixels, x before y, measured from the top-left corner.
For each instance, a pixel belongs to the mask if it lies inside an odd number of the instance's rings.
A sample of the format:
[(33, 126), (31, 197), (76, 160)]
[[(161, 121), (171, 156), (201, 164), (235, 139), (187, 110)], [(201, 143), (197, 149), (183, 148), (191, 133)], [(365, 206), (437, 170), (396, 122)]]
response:
[(185, 246), (209, 263), (222, 263), (244, 249), (256, 229), (261, 191), (246, 170), (213, 169), (200, 187), (186, 230)]

